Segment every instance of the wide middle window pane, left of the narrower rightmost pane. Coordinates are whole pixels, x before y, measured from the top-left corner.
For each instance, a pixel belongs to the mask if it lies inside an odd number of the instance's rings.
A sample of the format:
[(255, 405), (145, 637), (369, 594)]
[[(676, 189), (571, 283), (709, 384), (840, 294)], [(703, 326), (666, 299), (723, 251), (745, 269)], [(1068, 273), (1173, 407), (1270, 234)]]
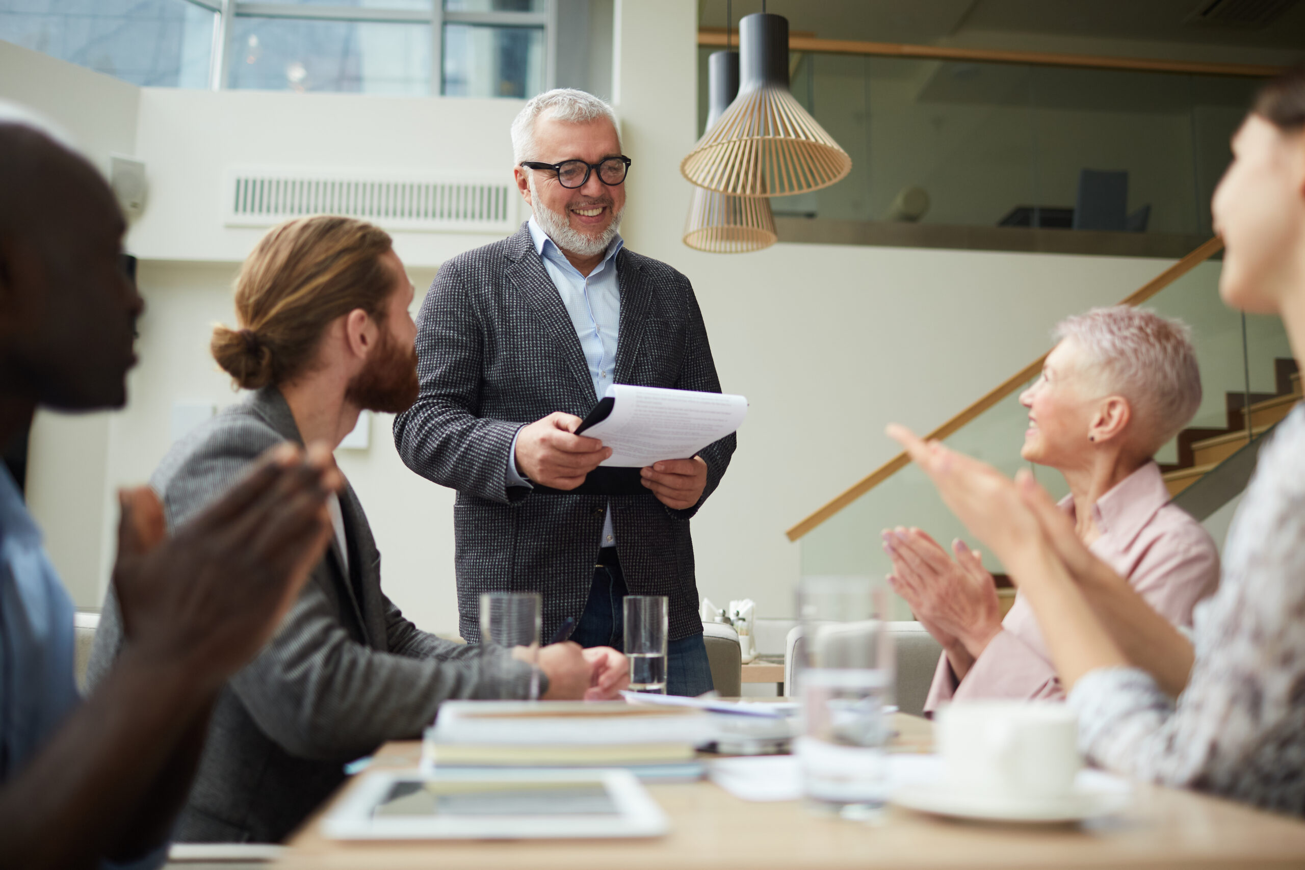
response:
[(431, 26), (239, 16), (230, 87), (431, 93)]

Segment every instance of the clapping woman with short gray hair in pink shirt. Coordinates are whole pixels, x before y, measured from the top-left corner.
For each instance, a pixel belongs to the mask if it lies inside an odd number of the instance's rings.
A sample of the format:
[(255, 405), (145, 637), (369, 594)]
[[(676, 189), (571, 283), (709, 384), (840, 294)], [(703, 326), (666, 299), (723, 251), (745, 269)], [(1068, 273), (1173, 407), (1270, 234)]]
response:
[[(1060, 509), (1091, 548), (1169, 622), (1219, 582), (1206, 530), (1169, 502), (1152, 460), (1201, 404), (1189, 330), (1125, 305), (1056, 327), (1043, 373), (1021, 395), (1028, 430), (1021, 457), (1065, 475)], [(891, 587), (942, 644), (925, 711), (947, 700), (1062, 699), (1065, 693), (1023, 595), (1001, 617), (992, 577), (960, 540), (951, 558), (917, 528), (883, 532)]]

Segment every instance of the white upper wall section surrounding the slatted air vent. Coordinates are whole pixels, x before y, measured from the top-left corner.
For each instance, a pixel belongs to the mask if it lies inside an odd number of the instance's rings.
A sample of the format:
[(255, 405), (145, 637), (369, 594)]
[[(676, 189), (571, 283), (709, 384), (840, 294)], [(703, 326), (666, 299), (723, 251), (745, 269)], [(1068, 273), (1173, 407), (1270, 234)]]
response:
[[(231, 166), (502, 172), (523, 100), (283, 91), (141, 91), (140, 146), (150, 202), (128, 247), (142, 260), (239, 262), (264, 230), (223, 226)], [(438, 266), (497, 236), (399, 232), (406, 263)]]

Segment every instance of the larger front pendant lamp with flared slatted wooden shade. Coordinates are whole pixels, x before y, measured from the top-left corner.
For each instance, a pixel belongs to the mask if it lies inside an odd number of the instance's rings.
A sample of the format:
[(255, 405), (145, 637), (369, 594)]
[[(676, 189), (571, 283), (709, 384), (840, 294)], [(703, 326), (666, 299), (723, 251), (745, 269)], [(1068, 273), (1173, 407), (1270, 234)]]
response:
[(737, 197), (791, 196), (846, 177), (852, 158), (788, 90), (788, 20), (744, 17), (739, 50), (739, 97), (680, 163), (684, 177)]

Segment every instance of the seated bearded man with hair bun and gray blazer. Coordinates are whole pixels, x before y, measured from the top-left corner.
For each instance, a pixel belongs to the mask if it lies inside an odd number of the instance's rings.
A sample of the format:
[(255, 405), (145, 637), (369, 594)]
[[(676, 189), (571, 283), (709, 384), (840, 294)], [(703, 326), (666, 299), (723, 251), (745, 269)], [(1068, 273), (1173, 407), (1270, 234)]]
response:
[[(151, 479), (167, 522), (184, 526), (264, 450), (331, 449), (364, 410), (399, 412), (418, 393), (412, 284), (377, 227), (341, 217), (274, 227), (244, 262), (239, 329), (211, 350), (244, 400), (172, 446)], [(346, 481), (328, 500), (331, 545), (271, 643), (218, 697), (183, 841), (278, 843), (345, 779), (343, 766), (389, 740), (418, 738), (449, 698), (526, 698), (531, 668), (512, 651), (444, 640), (381, 591), (380, 552)], [(184, 578), (177, 578), (184, 582)], [(89, 677), (123, 642), (104, 604)], [(543, 698), (612, 698), (626, 682), (613, 650), (539, 651)]]

